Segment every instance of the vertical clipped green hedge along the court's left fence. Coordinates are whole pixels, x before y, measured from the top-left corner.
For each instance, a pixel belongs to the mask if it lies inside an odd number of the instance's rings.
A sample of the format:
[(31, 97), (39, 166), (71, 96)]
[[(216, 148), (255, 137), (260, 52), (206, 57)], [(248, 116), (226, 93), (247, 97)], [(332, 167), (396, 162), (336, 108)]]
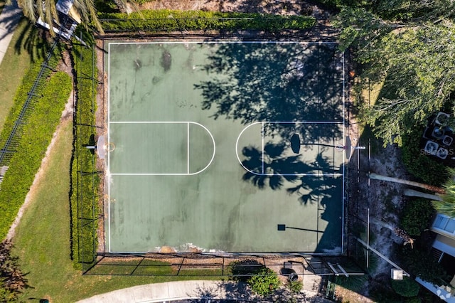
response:
[[(85, 39), (88, 41), (90, 39)], [(97, 78), (96, 60), (92, 48), (78, 47), (71, 52), (75, 63), (75, 139), (73, 142), (73, 163), (71, 166), (71, 234), (72, 256), (77, 269), (90, 266), (97, 250), (98, 191), (100, 178), (96, 174), (96, 156), (85, 144), (94, 144), (96, 85), (91, 75)]]

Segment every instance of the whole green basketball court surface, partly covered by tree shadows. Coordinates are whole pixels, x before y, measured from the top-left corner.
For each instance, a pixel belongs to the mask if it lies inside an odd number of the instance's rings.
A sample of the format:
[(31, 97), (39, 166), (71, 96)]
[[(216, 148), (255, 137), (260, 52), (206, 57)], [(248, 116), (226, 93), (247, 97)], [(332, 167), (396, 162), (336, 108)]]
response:
[(108, 252), (341, 252), (336, 44), (106, 46)]

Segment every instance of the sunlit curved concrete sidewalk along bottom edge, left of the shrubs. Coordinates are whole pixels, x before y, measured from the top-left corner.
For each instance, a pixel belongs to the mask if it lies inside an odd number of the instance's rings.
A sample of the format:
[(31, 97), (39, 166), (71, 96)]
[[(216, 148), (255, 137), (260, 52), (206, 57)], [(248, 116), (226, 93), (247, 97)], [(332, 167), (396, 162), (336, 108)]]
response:
[[(236, 283), (237, 284), (237, 283)], [(178, 299), (244, 299), (246, 293), (229, 290), (232, 282), (223, 281), (176, 281), (140, 285), (114, 290), (105, 294), (83, 299), (80, 303), (145, 303)], [(235, 288), (235, 287), (234, 287)], [(242, 286), (240, 286), (242, 289)]]

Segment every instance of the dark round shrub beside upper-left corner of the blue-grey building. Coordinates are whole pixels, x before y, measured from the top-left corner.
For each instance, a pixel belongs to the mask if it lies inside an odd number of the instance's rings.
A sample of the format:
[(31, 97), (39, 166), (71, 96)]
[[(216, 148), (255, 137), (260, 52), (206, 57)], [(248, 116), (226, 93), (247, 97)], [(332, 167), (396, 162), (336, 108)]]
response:
[(425, 198), (412, 198), (403, 208), (400, 228), (411, 238), (417, 238), (424, 229), (429, 228), (434, 216), (432, 203)]

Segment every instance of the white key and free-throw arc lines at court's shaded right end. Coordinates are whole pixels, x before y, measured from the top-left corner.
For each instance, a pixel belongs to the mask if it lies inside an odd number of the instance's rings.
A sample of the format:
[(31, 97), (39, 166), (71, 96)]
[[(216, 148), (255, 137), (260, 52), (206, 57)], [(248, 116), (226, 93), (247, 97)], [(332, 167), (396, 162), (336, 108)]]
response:
[[(344, 106), (344, 105), (343, 105)], [(263, 121), (263, 122), (253, 122), (251, 124), (248, 124), (244, 129), (242, 129), (242, 132), (237, 137), (237, 141), (235, 142), (235, 155), (237, 156), (237, 160), (239, 161), (240, 165), (245, 169), (245, 171), (250, 172), (251, 174), (255, 174), (258, 176), (276, 176), (276, 174), (265, 174), (264, 173), (264, 159), (262, 159), (262, 174), (257, 173), (255, 171), (251, 171), (250, 169), (247, 169), (245, 165), (242, 164), (242, 160), (240, 159), (239, 155), (239, 140), (240, 137), (242, 137), (243, 132), (247, 130), (249, 127), (252, 127), (255, 124), (261, 124), (262, 125), (262, 155), (264, 155), (264, 125), (265, 124), (343, 124), (344, 122), (341, 121)], [(344, 127), (343, 127), (343, 132), (344, 132)], [(262, 157), (264, 158), (264, 157)], [(343, 158), (344, 160), (344, 158)], [(344, 161), (343, 161), (343, 169), (344, 169)], [(343, 174), (340, 173), (331, 173), (331, 174), (321, 174), (321, 173), (312, 173), (312, 174), (279, 174), (280, 176), (343, 176), (344, 178), (344, 171)]]

